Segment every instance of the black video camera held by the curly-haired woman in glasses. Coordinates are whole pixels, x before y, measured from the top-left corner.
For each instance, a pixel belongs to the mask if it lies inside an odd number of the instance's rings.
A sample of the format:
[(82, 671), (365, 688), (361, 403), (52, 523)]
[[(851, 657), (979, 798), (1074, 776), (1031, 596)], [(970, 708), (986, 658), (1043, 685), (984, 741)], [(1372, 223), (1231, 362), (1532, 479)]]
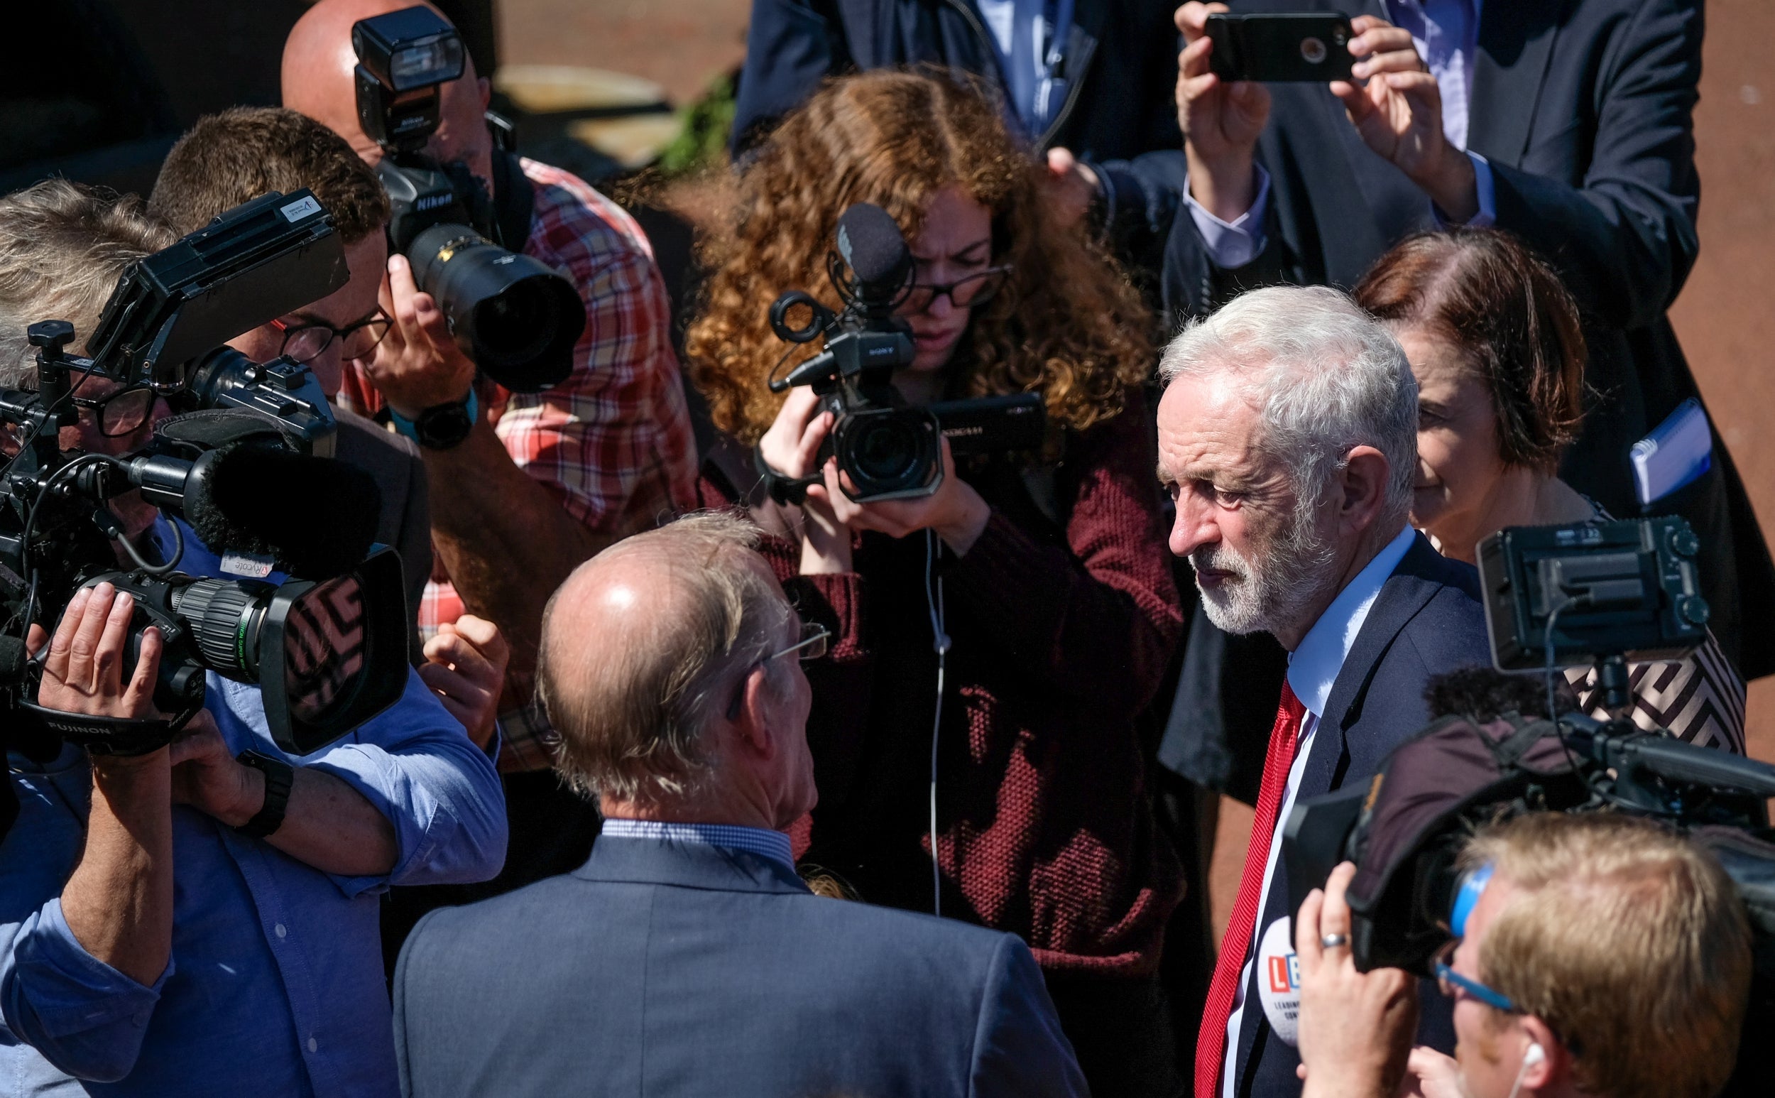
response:
[[(838, 219), (838, 251), (827, 256), (827, 277), (843, 309), (832, 313), (809, 293), (792, 290), (770, 306), (770, 329), (779, 339), (825, 348), (772, 378), (770, 391), (813, 386), (820, 409), (832, 412), (832, 434), (820, 444), (818, 464), (838, 458), (850, 478), (845, 494), (857, 503), (930, 496), (943, 485), (943, 444), (955, 457), (1038, 450), (1045, 432), (1040, 393), (980, 396), (911, 407), (893, 384), (893, 371), (912, 364), (912, 336), (893, 311), (912, 286), (912, 254), (900, 226), (880, 206), (857, 203)], [(848, 272), (848, 274), (847, 274)], [(806, 309), (809, 320), (793, 325), (790, 316)], [(777, 503), (801, 503), (818, 473), (788, 478), (774, 473), (758, 455), (770, 496)]]

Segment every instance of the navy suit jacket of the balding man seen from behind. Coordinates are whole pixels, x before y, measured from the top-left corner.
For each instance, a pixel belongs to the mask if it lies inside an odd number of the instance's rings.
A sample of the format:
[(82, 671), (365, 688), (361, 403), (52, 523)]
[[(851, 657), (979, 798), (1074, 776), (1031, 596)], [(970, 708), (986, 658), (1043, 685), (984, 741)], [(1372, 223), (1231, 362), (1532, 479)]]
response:
[(394, 1043), (415, 1098), (1085, 1094), (1015, 936), (627, 837), (426, 915), (396, 968)]

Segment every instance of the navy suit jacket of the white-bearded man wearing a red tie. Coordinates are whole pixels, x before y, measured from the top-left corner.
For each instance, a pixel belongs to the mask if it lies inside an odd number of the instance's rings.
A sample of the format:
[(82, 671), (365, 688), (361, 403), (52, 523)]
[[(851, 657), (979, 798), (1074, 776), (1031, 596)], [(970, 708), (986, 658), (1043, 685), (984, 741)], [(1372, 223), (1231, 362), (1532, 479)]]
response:
[[(1429, 680), (1473, 664), (1491, 664), (1479, 572), (1436, 553), (1420, 533), (1381, 585), (1356, 643), (1344, 657), (1314, 732), (1312, 753), (1296, 796), (1321, 796), (1372, 776), (1393, 748), (1431, 723), (1429, 702), (1424, 700)], [(1294, 915), (1289, 910), (1289, 892), (1278, 865), (1260, 926)], [(1251, 967), (1253, 983), (1246, 986), (1246, 1011), (1239, 1025), (1239, 1086), (1234, 1093), (1294, 1098), (1301, 1093), (1301, 1080), (1294, 1075), (1301, 1061), (1294, 1046), (1276, 1039), (1264, 1020), (1255, 988), (1258, 968)], [(1425, 983), (1418, 1041), (1454, 1052), (1448, 1000), (1434, 984)]]

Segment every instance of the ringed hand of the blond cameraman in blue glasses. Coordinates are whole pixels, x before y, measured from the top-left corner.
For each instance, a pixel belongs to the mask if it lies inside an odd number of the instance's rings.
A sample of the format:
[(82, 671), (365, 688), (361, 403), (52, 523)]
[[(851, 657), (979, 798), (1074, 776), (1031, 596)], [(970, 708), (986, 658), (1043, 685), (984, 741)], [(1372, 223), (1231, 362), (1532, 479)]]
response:
[[(1314, 888), (1294, 920), (1294, 954), (1301, 963), (1303, 1098), (1392, 1094), (1418, 1027), (1411, 974), (1399, 968), (1356, 972), (1344, 899), (1354, 876), (1351, 862), (1333, 869), (1324, 890)], [(1328, 935), (1342, 935), (1344, 943), (1326, 947)]]

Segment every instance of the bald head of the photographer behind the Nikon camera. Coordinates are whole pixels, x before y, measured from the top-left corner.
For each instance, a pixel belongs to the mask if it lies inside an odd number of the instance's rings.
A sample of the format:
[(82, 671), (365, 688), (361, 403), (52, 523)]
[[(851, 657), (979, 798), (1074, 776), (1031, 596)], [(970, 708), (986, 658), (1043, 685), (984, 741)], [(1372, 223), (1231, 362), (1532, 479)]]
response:
[[(414, 7), (414, 2), (320, 0), (296, 20), (284, 39), (284, 107), (300, 110), (344, 137), (369, 163), (382, 160), (382, 149), (357, 121), (351, 25), (406, 7)], [(476, 75), (474, 60), (465, 50), (462, 78), (442, 87), (438, 131), (431, 135), (426, 151), (444, 162), (462, 160), (476, 176), (490, 181), (493, 139), (486, 131), (486, 98), (488, 84)]]

